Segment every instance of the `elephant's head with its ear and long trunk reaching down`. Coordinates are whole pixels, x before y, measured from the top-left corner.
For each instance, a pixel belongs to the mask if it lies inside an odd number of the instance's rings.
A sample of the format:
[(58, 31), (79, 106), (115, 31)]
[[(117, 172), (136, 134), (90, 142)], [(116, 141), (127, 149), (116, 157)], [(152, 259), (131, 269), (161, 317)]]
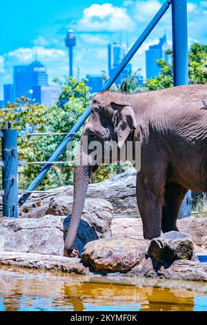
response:
[[(90, 175), (92, 171), (97, 169), (100, 163), (103, 163), (103, 159), (96, 164), (92, 162), (91, 142), (98, 141), (101, 143), (102, 148), (103, 145), (106, 145), (106, 142), (109, 146), (112, 142), (117, 142), (118, 147), (121, 148), (136, 127), (137, 122), (132, 106), (129, 102), (122, 101), (121, 94), (108, 92), (95, 95), (91, 106), (90, 118), (83, 129), (83, 137), (75, 161), (74, 202), (64, 248), (67, 256), (72, 256), (74, 253), (73, 243), (77, 235)], [(87, 148), (83, 146), (84, 136), (88, 137)], [(114, 162), (112, 161), (111, 150), (107, 151), (109, 153), (108, 157), (106, 157), (106, 151), (102, 149), (102, 152), (105, 155), (102, 156), (104, 162)]]

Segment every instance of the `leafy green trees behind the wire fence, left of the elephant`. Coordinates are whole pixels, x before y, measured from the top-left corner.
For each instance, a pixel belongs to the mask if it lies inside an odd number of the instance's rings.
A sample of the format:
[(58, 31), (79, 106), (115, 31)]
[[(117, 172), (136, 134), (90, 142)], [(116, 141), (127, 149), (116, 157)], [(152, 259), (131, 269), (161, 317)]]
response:
[[(46, 107), (26, 97), (17, 99), (14, 104), (8, 102), (0, 111), (0, 127), (7, 127), (10, 121), (12, 128), (19, 132), (24, 131), (24, 133), (70, 131), (89, 104), (89, 89), (84, 81), (73, 80), (71, 77), (65, 77), (63, 81), (55, 80), (55, 82), (61, 84), (63, 89), (57, 104)], [(18, 139), (19, 160), (47, 161), (62, 139), (63, 136), (20, 136)], [(79, 136), (75, 136), (75, 140), (78, 139)], [(60, 160), (65, 161), (70, 152), (71, 150), (64, 151)], [(38, 165), (19, 167), (19, 188), (25, 189), (39, 169)], [(39, 189), (70, 184), (72, 175), (72, 169), (67, 165), (55, 165), (43, 179)]]

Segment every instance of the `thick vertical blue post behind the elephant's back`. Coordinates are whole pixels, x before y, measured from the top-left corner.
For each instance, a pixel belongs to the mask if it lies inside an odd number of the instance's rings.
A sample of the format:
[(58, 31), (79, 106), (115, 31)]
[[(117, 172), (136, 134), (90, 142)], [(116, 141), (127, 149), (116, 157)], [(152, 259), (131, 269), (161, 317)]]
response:
[[(173, 84), (188, 84), (188, 21), (187, 0), (172, 0)], [(188, 191), (179, 210), (179, 218), (191, 214), (191, 191)]]

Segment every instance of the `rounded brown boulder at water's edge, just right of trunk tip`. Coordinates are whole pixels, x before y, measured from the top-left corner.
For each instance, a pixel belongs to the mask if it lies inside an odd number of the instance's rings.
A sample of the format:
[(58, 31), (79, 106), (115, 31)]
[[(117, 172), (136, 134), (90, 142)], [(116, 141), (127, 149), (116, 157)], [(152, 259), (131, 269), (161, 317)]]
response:
[(144, 239), (99, 239), (86, 244), (81, 259), (95, 271), (128, 272), (145, 259), (149, 243)]

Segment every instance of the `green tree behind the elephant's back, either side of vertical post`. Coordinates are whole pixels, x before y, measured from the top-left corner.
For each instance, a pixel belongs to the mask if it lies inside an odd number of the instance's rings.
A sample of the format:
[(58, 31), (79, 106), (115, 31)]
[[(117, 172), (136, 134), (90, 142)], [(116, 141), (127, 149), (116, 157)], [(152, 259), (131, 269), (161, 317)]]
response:
[[(173, 86), (172, 77), (172, 50), (168, 50), (170, 63), (158, 59), (157, 64), (161, 73), (155, 78), (149, 78), (145, 86), (149, 90), (164, 89)], [(198, 43), (190, 46), (188, 52), (188, 75), (190, 84), (207, 83), (207, 46)]]

